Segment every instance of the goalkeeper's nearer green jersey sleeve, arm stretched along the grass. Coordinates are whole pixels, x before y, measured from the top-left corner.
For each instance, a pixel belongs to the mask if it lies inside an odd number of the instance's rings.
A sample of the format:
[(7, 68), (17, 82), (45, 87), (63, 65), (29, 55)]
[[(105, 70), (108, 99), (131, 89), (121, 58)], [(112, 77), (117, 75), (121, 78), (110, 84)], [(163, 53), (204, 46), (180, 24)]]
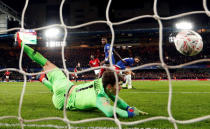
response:
[[(102, 94), (99, 94), (96, 99), (96, 107), (101, 110), (107, 117), (113, 117), (114, 113), (114, 107), (110, 104), (109, 100), (103, 96)], [(120, 109), (116, 107), (116, 114), (120, 117), (128, 117), (128, 112), (126, 110)]]

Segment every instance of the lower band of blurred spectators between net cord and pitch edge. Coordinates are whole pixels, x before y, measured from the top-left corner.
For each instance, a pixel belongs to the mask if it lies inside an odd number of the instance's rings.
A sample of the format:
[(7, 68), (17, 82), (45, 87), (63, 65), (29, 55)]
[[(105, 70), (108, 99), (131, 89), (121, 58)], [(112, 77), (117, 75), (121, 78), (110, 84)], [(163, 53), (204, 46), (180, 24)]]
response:
[[(32, 72), (28, 71), (27, 69), (24, 69), (26, 72)], [(38, 71), (33, 71), (38, 72)], [(165, 80), (168, 79), (168, 76), (166, 72), (162, 70), (137, 70), (133, 71), (135, 73), (134, 76), (132, 76), (132, 79), (140, 79), (140, 80), (148, 80), (148, 79), (155, 79), (155, 80)], [(186, 74), (187, 73), (187, 74)], [(78, 80), (93, 80), (95, 79), (95, 74), (93, 71), (85, 72), (81, 74), (80, 78)], [(179, 80), (179, 79), (210, 79), (210, 71), (206, 69), (179, 69), (179, 70), (173, 70), (170, 71), (170, 77), (173, 80)], [(74, 80), (72, 78), (72, 75), (70, 75), (70, 79)], [(5, 76), (4, 72), (0, 72), (0, 81), (4, 81)], [(23, 75), (18, 72), (11, 71), (10, 74), (10, 80), (16, 80), (16, 81), (23, 81)], [(34, 81), (36, 79), (36, 75), (33, 76), (27, 76), (28, 81)]]

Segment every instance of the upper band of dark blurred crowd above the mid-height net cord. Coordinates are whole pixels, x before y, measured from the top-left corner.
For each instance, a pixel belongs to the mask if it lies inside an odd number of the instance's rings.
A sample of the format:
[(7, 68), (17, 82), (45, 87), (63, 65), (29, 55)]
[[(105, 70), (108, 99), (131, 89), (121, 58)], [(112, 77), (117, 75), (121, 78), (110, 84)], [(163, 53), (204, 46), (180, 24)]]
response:
[[(42, 55), (44, 55), (48, 60), (56, 64), (58, 67), (63, 67), (63, 60), (61, 54), (61, 48), (46, 48), (38, 47), (34, 48)], [(127, 48), (114, 48), (122, 58), (139, 56), (141, 58), (141, 64), (147, 63), (157, 63), (160, 62), (159, 58), (159, 46), (133, 46)], [(208, 49), (205, 48), (200, 54), (196, 56), (184, 56), (180, 54), (174, 47), (174, 45), (163, 46), (163, 59), (168, 65), (178, 65), (187, 63), (197, 59), (207, 59), (210, 57), (208, 54)], [(18, 68), (20, 49), (10, 48), (10, 49), (0, 49), (0, 68)], [(99, 60), (104, 59), (103, 48), (74, 48), (64, 50), (64, 61), (68, 68), (73, 68), (78, 62), (84, 68), (89, 67), (88, 63), (90, 60), (90, 55), (94, 55), (99, 58)], [(116, 61), (119, 61), (115, 57)], [(204, 62), (203, 62), (204, 63)], [(32, 62), (25, 54), (23, 54), (22, 59), (23, 68), (39, 68), (40, 66)]]

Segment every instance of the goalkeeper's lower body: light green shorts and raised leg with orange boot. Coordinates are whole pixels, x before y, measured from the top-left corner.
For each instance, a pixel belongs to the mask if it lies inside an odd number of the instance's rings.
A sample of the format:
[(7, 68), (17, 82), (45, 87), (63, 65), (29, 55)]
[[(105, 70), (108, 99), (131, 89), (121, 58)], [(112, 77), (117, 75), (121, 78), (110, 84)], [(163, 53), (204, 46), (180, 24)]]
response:
[[(23, 43), (17, 35), (18, 44), (22, 47)], [(24, 45), (24, 52), (36, 63), (40, 64), (44, 71), (47, 72), (48, 80), (43, 79), (43, 82), (50, 90), (53, 90), (53, 104), (55, 108), (62, 109), (64, 106), (65, 94), (74, 84), (66, 78), (64, 73), (53, 63), (48, 61), (40, 53), (36, 52), (31, 47)]]

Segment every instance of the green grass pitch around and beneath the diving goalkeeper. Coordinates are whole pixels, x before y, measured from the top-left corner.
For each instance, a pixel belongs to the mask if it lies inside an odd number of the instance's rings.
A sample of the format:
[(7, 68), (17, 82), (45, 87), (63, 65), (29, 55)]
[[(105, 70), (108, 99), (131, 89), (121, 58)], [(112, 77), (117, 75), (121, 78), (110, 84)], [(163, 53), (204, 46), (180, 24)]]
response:
[[(209, 81), (173, 81), (172, 115), (176, 120), (189, 120), (210, 114), (210, 82)], [(18, 106), (23, 83), (0, 83), (0, 117), (18, 116)], [(120, 118), (120, 121), (137, 121), (155, 116), (168, 116), (168, 82), (167, 81), (133, 81), (136, 89), (123, 89), (119, 96), (129, 105), (149, 113), (148, 116)], [(44, 117), (63, 117), (63, 111), (56, 110), (51, 101), (51, 93), (39, 82), (28, 82), (24, 95), (21, 115), (26, 120)], [(88, 118), (104, 117), (98, 110), (68, 111), (68, 119), (72, 121)], [(3, 119), (0, 123), (17, 124), (17, 119)], [(63, 121), (40, 121), (25, 124), (48, 124), (66, 126)], [(192, 124), (178, 124), (182, 129), (209, 129), (210, 120)], [(76, 127), (117, 127), (113, 121), (96, 121), (74, 124)], [(173, 128), (166, 120), (155, 120), (123, 128)], [(25, 127), (26, 129), (40, 129)], [(43, 127), (42, 127), (43, 128)], [(0, 126), (0, 129), (20, 129), (20, 127)]]

